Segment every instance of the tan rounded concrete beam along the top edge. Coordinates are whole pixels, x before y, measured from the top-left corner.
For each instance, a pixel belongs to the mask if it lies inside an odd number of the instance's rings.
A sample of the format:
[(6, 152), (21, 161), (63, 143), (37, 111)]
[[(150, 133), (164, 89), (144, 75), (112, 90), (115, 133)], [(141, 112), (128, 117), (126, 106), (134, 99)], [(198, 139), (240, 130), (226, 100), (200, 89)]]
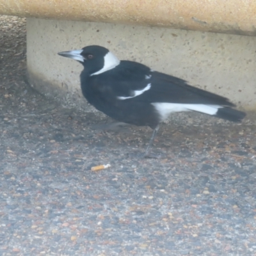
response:
[(253, 0), (0, 0), (0, 13), (256, 35)]

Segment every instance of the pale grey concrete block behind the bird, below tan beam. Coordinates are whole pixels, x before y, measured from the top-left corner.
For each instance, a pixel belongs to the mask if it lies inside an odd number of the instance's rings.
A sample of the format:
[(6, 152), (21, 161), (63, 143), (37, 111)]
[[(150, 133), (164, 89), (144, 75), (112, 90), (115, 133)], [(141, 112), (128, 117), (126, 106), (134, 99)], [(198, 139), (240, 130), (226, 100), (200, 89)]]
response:
[(31, 84), (70, 106), (88, 109), (79, 86), (82, 66), (57, 52), (96, 44), (256, 111), (255, 37), (33, 18), (27, 24)]

